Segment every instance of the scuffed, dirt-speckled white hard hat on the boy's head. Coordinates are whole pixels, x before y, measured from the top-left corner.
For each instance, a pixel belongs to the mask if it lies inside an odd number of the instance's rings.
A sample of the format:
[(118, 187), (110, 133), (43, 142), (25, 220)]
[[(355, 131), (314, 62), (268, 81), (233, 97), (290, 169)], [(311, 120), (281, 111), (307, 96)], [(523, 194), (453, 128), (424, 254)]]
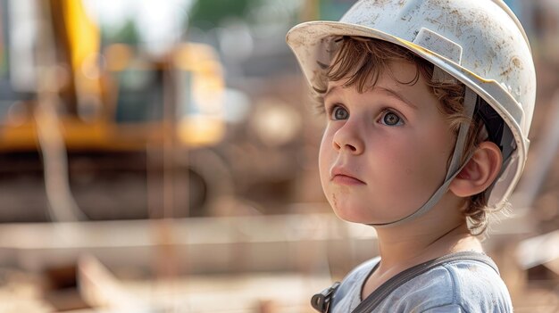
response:
[[(341, 36), (404, 46), (461, 81), (505, 122), (504, 169), (489, 204), (505, 202), (526, 162), (536, 98), (530, 44), (520, 21), (500, 0), (361, 0), (340, 21), (309, 21), (289, 30), (288, 45), (311, 86), (323, 79)], [(468, 92), (468, 91), (467, 91)], [(489, 117), (490, 119), (490, 117)], [(460, 135), (459, 135), (460, 136)], [(447, 177), (448, 178), (448, 177)]]

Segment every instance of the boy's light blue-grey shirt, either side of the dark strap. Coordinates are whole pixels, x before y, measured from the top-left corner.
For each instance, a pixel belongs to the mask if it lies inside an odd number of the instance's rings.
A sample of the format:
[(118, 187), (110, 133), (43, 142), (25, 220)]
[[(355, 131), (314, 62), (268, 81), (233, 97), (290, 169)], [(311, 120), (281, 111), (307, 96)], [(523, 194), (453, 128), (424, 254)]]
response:
[[(373, 312), (512, 312), (510, 295), (495, 263), (449, 261), (400, 284)], [(379, 258), (364, 262), (346, 276), (332, 312), (351, 312), (361, 302), (361, 288)], [(380, 288), (382, 288), (381, 286)]]

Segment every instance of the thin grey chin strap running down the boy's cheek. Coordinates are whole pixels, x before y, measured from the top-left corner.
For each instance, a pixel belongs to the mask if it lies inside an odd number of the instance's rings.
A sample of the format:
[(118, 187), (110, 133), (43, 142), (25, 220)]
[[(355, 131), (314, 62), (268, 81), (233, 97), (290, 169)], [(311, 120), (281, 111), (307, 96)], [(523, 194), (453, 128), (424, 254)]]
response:
[[(466, 116), (472, 118), (473, 111), (475, 110), (476, 102), (478, 100), (478, 95), (476, 95), (469, 87), (466, 86), (466, 91), (464, 95), (464, 113)], [(463, 167), (470, 161), (471, 155), (468, 156), (463, 164), (460, 164), (460, 159), (463, 156), (464, 144), (466, 142), (466, 137), (468, 136), (468, 130), (470, 128), (469, 122), (463, 122), (458, 130), (458, 136), (456, 137), (455, 152), (453, 152), (452, 160), (450, 161), (450, 166), (446, 170), (445, 182), (443, 185), (438, 187), (437, 191), (431, 195), (430, 199), (425, 202), (421, 208), (415, 210), (412, 214), (406, 216), (405, 218), (400, 218), (388, 223), (380, 224), (369, 224), (372, 227), (386, 227), (386, 226), (396, 226), (413, 220), (415, 218), (421, 217), (423, 214), (431, 210), (437, 202), (440, 201), (442, 196), (446, 194), (448, 186), (453, 181), (453, 179), (460, 173)]]

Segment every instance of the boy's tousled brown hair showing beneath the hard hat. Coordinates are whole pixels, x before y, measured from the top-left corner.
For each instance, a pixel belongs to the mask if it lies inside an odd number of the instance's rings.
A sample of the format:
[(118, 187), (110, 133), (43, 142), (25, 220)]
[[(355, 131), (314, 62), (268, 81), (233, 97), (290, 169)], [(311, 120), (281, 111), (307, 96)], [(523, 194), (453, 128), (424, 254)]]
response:
[[(411, 81), (398, 81), (402, 84), (413, 85), (417, 83), (420, 75), (425, 78), (430, 91), (438, 100), (438, 110), (446, 116), (449, 126), (458, 134), (463, 122), (470, 123), (470, 129), (465, 142), (463, 160), (465, 162), (480, 142), (485, 141), (483, 121), (479, 116), (473, 119), (464, 115), (463, 99), (465, 86), (458, 81), (433, 81), (434, 65), (417, 54), (402, 46), (369, 37), (338, 37), (338, 50), (332, 62), (326, 68), (320, 85), (313, 86), (319, 108), (323, 108), (323, 95), (327, 91), (328, 81), (347, 79), (344, 86), (355, 86), (359, 93), (374, 87), (385, 71), (389, 71), (391, 62), (411, 62), (416, 65), (417, 71)], [(323, 109), (321, 109), (323, 110)], [(447, 166), (450, 163), (450, 155)], [(472, 235), (481, 235), (488, 227), (488, 213), (494, 209), (488, 208), (488, 197), (485, 192), (472, 195), (463, 202), (462, 212), (468, 222)]]

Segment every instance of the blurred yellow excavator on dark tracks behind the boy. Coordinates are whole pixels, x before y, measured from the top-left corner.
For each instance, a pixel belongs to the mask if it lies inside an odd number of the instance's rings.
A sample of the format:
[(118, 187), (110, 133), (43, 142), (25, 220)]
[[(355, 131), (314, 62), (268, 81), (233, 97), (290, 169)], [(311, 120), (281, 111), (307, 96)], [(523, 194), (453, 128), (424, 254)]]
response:
[[(0, 187), (10, 198), (0, 221), (204, 214), (212, 170), (196, 167), (219, 159), (207, 148), (225, 131), (211, 46), (178, 43), (158, 57), (101, 46), (74, 0), (3, 0), (0, 12)], [(204, 151), (196, 165), (189, 152)], [(22, 176), (44, 185), (14, 183)]]

